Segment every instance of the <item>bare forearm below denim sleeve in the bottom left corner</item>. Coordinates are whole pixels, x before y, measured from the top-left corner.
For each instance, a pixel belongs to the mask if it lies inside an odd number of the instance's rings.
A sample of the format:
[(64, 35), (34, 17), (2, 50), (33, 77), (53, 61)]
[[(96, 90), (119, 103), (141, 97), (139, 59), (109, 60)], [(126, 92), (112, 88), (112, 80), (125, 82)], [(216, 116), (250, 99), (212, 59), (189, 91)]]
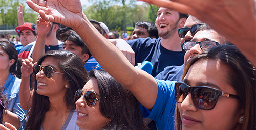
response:
[(15, 113), (12, 113), (12, 112), (10, 112), (8, 110), (4, 110), (3, 121), (11, 123), (17, 129), (19, 129), (19, 127), (20, 127), (20, 121), (19, 121), (18, 116)]

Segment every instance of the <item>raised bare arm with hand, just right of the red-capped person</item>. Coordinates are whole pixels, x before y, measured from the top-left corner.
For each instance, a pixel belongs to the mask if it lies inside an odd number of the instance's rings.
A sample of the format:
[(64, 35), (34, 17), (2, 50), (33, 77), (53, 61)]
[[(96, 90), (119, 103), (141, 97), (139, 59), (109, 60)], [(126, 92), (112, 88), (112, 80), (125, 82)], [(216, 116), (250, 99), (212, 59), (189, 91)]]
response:
[(36, 21), (36, 28), (38, 35), (32, 53), (32, 58), (34, 59), (33, 63), (37, 62), (38, 59), (45, 54), (46, 35), (51, 30), (51, 22), (47, 22), (39, 17)]

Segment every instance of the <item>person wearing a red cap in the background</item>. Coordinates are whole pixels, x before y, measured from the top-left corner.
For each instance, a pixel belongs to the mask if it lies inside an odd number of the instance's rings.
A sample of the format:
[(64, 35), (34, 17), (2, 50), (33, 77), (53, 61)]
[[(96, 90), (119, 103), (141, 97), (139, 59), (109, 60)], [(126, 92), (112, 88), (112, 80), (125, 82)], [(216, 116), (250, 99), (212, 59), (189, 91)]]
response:
[(26, 22), (16, 27), (15, 30), (20, 35), (20, 42), (22, 43), (22, 46), (16, 47), (19, 54), (24, 46), (36, 40), (35, 24)]

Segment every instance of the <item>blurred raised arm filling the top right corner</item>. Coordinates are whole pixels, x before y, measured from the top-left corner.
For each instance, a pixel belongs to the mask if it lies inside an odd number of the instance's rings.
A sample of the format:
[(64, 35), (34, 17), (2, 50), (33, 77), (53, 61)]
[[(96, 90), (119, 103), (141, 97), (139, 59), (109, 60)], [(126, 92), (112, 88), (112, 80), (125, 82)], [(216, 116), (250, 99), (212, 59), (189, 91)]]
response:
[(204, 21), (236, 45), (256, 65), (255, 0), (140, 0)]

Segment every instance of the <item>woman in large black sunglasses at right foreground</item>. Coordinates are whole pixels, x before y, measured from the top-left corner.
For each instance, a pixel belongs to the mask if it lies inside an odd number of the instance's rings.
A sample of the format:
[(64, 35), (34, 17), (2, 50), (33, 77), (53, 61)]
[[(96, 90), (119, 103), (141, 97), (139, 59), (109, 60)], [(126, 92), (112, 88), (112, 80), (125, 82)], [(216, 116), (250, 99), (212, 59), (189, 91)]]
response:
[(255, 129), (255, 77), (233, 45), (195, 56), (175, 83), (176, 129)]

